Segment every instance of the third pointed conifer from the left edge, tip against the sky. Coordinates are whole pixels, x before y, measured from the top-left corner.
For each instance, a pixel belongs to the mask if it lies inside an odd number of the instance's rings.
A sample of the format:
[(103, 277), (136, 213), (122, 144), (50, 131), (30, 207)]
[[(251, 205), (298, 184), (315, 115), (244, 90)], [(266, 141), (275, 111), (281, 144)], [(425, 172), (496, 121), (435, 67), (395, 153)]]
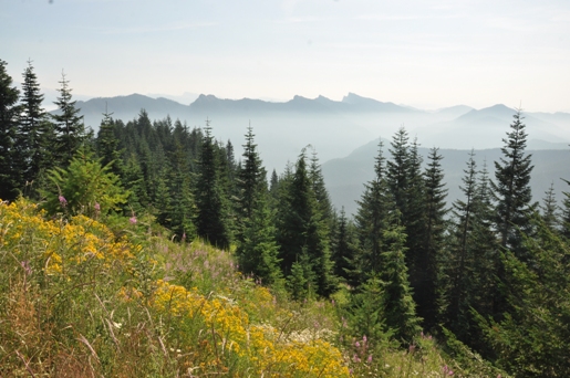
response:
[(55, 146), (54, 154), (61, 166), (66, 166), (68, 161), (73, 157), (85, 139), (85, 127), (83, 117), (79, 115), (80, 109), (75, 108), (75, 101), (72, 101), (71, 88), (65, 74), (61, 74), (61, 88), (58, 101), (58, 112), (52, 114), (55, 126)]

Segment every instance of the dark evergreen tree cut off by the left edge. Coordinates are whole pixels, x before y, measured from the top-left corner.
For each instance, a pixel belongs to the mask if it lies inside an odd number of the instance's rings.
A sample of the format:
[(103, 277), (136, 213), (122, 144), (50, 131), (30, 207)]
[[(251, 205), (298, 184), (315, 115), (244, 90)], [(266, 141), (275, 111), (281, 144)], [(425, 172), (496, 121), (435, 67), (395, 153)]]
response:
[(12, 86), (12, 77), (8, 75), (6, 65), (0, 60), (0, 200), (14, 200), (23, 176), (21, 167), (15, 165), (20, 91)]

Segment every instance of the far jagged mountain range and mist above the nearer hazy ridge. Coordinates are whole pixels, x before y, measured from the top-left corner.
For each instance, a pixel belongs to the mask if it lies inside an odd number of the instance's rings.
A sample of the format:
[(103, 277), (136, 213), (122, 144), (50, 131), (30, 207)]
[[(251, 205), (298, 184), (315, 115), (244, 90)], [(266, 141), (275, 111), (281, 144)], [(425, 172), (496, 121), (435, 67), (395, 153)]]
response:
[[(268, 170), (274, 168), (278, 171), (283, 170), (287, 161), (294, 161), (309, 144), (315, 148), (321, 161), (327, 161), (348, 156), (380, 136), (390, 138), (401, 126), (425, 147), (500, 147), (515, 113), (505, 105), (483, 109), (457, 105), (428, 112), (353, 93), (342, 101), (294, 96), (282, 103), (224, 99), (201, 94), (189, 105), (132, 94), (79, 101), (76, 105), (85, 124), (95, 130), (105, 112), (112, 113), (115, 119), (128, 122), (144, 108), (151, 119), (169, 115), (173, 120), (180, 119), (189, 127), (203, 127), (208, 118), (214, 135), (224, 141), (231, 139), (239, 154), (246, 128), (251, 124)], [(530, 149), (560, 149), (570, 143), (570, 114), (529, 113), (525, 116)]]

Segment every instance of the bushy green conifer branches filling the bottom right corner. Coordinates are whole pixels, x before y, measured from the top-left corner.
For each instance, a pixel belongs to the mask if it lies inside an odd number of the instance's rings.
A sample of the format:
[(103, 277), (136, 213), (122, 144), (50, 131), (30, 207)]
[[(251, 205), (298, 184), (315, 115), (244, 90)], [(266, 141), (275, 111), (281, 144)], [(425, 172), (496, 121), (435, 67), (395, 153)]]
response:
[(500, 322), (479, 321), (497, 353), (496, 364), (517, 377), (570, 375), (570, 248), (540, 217), (532, 220), (536, 235), (522, 235), (530, 260), (502, 254), (502, 291), (509, 312)]

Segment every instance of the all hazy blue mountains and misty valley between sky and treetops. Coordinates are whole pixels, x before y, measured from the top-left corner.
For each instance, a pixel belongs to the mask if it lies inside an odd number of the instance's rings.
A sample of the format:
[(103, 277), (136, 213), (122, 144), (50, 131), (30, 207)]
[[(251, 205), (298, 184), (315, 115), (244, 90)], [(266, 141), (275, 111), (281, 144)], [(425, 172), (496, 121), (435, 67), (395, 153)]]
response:
[[(203, 127), (208, 118), (216, 138), (232, 141), (238, 159), (243, 135), (251, 124), (268, 171), (282, 171), (288, 161), (297, 160), (303, 147), (312, 145), (324, 161), (323, 175), (333, 203), (339, 208), (344, 206), (348, 212), (356, 209), (355, 200), (362, 193), (363, 183), (373, 177), (379, 137), (390, 139), (404, 126), (411, 138), (417, 138), (425, 147), (421, 148), (423, 156), (427, 156), (427, 148), (439, 147), (449, 200), (455, 200), (460, 195), (458, 186), (468, 150), (477, 149), (479, 166), (487, 159), (493, 170), (493, 161), (500, 157), (499, 147), (516, 113), (501, 104), (481, 109), (457, 105), (428, 112), (354, 93), (342, 101), (294, 96), (281, 103), (201, 94), (189, 105), (132, 94), (77, 101), (76, 105), (85, 124), (95, 130), (105, 112), (126, 123), (138, 117), (144, 108), (151, 119), (170, 116), (189, 127)], [(527, 148), (533, 151), (535, 197), (540, 199), (552, 181), (559, 192), (570, 189), (560, 182), (561, 177), (570, 178), (570, 114), (524, 113), (524, 116), (529, 135)]]

